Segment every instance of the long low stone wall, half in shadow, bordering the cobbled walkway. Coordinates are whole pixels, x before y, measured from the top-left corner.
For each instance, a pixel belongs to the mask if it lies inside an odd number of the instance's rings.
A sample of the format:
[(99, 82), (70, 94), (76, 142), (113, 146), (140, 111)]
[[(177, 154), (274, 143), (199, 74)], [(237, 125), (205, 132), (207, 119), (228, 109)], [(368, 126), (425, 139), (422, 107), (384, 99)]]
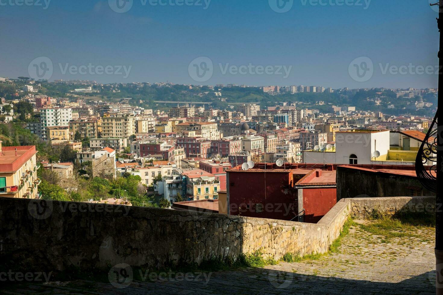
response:
[(371, 208), (395, 211), (414, 203), (411, 199), (343, 199), (317, 224), (311, 224), (123, 205), (0, 198), (0, 269), (109, 270), (121, 263), (161, 269), (214, 258), (236, 260), (258, 249), (276, 260), (288, 252), (325, 253), (350, 215), (365, 217)]

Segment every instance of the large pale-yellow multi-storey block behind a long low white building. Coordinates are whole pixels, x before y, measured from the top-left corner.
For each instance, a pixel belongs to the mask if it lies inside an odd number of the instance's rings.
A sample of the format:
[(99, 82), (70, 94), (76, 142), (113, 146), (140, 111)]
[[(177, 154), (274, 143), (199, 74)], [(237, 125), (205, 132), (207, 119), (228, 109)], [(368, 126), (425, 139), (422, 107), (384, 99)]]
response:
[(128, 138), (136, 134), (135, 116), (109, 114), (101, 119), (102, 138)]

